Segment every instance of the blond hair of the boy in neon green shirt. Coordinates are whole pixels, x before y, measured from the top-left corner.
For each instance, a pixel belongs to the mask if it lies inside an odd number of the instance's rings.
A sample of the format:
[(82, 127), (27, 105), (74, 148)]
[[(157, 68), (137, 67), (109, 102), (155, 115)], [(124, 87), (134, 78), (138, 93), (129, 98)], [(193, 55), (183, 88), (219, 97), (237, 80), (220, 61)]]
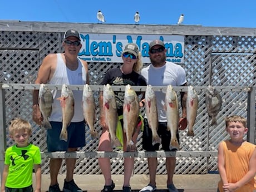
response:
[(9, 125), (9, 135), (13, 136), (14, 132), (19, 130), (26, 130), (28, 134), (31, 134), (32, 132), (31, 124), (29, 124), (28, 121), (17, 117), (14, 120), (12, 120), (11, 124)]

